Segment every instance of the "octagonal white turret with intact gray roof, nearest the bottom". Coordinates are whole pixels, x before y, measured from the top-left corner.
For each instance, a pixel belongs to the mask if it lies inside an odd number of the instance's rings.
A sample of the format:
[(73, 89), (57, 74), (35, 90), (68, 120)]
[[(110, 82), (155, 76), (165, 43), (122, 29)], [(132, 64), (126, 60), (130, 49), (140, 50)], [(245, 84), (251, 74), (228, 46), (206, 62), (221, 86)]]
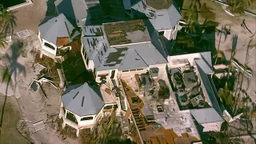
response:
[(112, 110), (120, 112), (118, 98), (106, 93), (105, 87), (100, 90), (83, 85), (69, 86), (62, 94), (62, 104), (59, 118), (63, 119), (63, 127), (69, 125), (77, 130), (92, 128), (102, 117), (102, 114), (110, 114)]

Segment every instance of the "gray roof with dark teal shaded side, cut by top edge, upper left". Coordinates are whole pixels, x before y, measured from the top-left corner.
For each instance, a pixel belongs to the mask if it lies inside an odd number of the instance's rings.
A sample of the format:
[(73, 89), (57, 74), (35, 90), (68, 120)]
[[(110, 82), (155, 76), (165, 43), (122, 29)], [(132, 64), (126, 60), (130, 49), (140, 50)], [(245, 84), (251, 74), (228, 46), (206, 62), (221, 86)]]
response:
[(57, 0), (55, 6), (59, 14), (65, 14), (66, 17), (72, 18), (80, 26), (85, 25), (88, 8), (84, 0)]

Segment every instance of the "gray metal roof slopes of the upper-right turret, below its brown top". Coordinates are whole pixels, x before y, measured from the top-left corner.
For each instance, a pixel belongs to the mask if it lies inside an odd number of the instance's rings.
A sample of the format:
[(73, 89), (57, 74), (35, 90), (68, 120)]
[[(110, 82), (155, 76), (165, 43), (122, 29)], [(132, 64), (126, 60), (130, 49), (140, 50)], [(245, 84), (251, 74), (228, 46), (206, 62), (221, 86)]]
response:
[(150, 18), (150, 22), (154, 26), (155, 30), (170, 30), (173, 29), (182, 15), (179, 13), (178, 8), (171, 5), (165, 10), (156, 10), (155, 18)]

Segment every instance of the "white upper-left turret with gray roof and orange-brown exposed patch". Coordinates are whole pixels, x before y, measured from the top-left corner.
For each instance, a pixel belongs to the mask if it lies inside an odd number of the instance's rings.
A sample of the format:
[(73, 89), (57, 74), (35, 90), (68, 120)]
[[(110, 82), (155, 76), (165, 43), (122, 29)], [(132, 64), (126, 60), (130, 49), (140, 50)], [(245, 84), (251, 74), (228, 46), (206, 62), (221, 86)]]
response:
[(71, 50), (71, 42), (79, 34), (64, 14), (43, 20), (38, 29), (38, 39), (42, 47), (41, 58), (46, 55), (54, 59), (61, 55), (61, 50)]

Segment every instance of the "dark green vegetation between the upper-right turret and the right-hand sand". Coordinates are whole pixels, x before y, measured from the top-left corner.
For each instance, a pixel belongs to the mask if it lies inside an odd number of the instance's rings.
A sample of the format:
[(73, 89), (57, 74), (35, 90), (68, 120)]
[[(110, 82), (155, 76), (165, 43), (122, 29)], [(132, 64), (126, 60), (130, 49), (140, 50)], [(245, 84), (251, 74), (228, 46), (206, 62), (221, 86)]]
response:
[(211, 51), (215, 54), (215, 14), (206, 2), (183, 2), (182, 18), (186, 22), (182, 30), (178, 31), (174, 48), (170, 54), (186, 54), (202, 51)]

